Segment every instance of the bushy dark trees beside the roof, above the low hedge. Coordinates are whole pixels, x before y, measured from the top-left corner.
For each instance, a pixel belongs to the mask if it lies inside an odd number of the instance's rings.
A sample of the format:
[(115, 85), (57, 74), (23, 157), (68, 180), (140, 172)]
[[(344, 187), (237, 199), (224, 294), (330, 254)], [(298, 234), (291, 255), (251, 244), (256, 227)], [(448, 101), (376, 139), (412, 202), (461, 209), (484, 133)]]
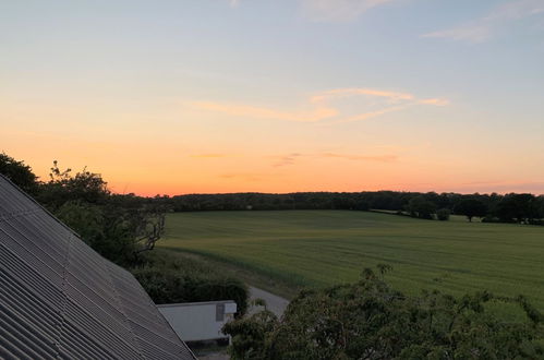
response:
[(138, 253), (152, 250), (162, 236), (161, 205), (112, 195), (101, 176), (86, 168), (73, 173), (53, 161), (37, 199), (94, 250), (123, 266), (136, 262)]

